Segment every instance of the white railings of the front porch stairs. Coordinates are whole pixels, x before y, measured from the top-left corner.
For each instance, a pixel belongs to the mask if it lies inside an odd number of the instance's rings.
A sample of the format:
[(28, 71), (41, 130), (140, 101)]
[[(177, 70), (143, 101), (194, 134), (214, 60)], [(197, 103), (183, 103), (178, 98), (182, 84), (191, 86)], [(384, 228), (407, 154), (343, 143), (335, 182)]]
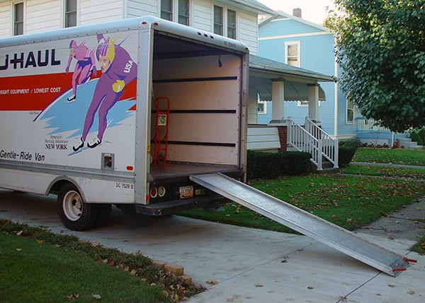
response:
[(338, 168), (338, 140), (323, 131), (310, 119), (305, 119), (305, 127), (296, 124), (288, 117), (288, 145), (296, 150), (312, 154), (312, 162), (317, 170), (323, 170), (325, 158)]

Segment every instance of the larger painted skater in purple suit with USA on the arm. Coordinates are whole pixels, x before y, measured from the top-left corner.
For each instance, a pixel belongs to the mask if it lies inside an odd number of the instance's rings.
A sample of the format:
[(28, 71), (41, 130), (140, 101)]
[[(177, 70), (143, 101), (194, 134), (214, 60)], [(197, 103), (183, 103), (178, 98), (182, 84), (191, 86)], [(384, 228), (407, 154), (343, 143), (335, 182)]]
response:
[(114, 42), (110, 37), (105, 40), (103, 35), (98, 35), (96, 57), (101, 65), (102, 75), (96, 84), (93, 100), (87, 110), (80, 142), (73, 146), (74, 151), (84, 146), (96, 112), (98, 112), (99, 119), (98, 134), (87, 143), (87, 146), (95, 148), (101, 144), (107, 126), (106, 116), (109, 109), (123, 94), (125, 85), (137, 77), (137, 64), (132, 61), (130, 54), (120, 44), (114, 44)]

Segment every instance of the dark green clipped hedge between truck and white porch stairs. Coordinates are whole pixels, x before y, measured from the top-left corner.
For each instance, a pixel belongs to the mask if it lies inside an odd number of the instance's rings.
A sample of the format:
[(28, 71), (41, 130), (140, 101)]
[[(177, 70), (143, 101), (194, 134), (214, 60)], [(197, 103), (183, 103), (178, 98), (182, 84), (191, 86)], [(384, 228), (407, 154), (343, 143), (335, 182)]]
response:
[(283, 174), (306, 174), (311, 170), (310, 153), (258, 153), (249, 150), (246, 176), (252, 179), (274, 179)]

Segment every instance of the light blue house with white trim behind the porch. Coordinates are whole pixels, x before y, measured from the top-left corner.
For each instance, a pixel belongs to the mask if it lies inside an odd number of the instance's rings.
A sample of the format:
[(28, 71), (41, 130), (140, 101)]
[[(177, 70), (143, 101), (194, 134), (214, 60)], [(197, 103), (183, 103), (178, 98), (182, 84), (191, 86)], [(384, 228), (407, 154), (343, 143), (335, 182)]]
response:
[[(278, 11), (259, 24), (259, 56), (335, 78), (341, 74), (334, 55), (334, 35), (328, 28), (302, 19), (300, 8), (295, 8), (293, 15)], [(397, 140), (414, 147), (407, 133), (391, 133), (376, 126), (373, 119), (365, 119), (346, 99), (338, 82), (319, 84), (324, 96), (319, 96), (316, 122), (332, 138), (357, 137), (363, 143), (390, 146)], [(271, 108), (270, 100), (260, 98), (258, 124), (269, 124)], [(283, 112), (285, 117), (292, 117), (300, 125), (305, 125), (306, 117), (311, 118), (307, 101), (285, 102)]]

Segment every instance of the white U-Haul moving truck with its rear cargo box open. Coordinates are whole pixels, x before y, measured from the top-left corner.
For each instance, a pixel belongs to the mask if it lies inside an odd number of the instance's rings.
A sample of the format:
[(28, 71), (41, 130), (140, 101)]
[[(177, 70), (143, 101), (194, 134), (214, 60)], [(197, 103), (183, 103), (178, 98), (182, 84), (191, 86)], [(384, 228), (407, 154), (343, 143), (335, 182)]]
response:
[(189, 176), (244, 179), (247, 75), (241, 42), (150, 16), (1, 39), (0, 187), (72, 230), (217, 206)]

